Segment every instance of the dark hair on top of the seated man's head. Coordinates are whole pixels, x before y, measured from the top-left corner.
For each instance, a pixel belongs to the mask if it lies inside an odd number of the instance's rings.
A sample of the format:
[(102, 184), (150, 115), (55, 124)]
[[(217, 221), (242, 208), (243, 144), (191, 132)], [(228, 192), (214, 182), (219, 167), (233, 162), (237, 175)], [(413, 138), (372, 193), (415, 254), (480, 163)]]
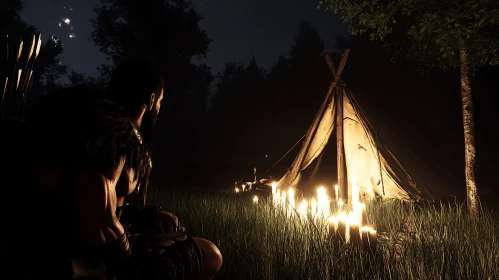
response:
[(140, 58), (129, 58), (116, 67), (107, 92), (107, 99), (122, 106), (127, 114), (136, 114), (140, 105), (149, 104), (164, 87), (164, 79), (153, 65)]

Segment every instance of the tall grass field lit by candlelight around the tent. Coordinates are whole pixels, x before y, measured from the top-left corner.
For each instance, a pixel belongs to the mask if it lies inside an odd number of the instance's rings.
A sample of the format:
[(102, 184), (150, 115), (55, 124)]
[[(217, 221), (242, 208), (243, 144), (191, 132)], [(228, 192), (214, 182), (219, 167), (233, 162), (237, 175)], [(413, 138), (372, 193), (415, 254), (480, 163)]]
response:
[(488, 209), (473, 223), (457, 203), (369, 203), (379, 235), (373, 255), (335, 249), (325, 226), (288, 218), (268, 199), (255, 205), (246, 193), (155, 189), (149, 202), (217, 244), (224, 257), (217, 279), (499, 279), (499, 216)]

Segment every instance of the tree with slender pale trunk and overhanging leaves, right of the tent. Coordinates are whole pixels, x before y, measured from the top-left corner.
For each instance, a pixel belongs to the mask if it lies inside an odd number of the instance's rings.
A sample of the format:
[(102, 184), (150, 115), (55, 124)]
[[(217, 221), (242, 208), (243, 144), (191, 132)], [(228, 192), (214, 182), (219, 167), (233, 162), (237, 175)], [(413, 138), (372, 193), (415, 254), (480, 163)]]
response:
[(467, 203), (470, 215), (478, 217), (470, 80), (477, 67), (499, 64), (499, 2), (321, 0), (320, 7), (341, 13), (352, 35), (383, 41), (392, 58), (410, 58), (423, 71), (460, 68)]

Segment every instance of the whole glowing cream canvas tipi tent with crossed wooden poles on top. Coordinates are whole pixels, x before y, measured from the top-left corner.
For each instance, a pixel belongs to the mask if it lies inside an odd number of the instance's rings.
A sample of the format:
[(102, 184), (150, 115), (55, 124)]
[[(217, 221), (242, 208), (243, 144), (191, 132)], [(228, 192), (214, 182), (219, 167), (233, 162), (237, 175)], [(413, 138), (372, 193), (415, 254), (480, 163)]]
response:
[[(341, 73), (348, 55), (349, 50), (346, 50), (338, 69), (326, 55), (334, 80), (298, 155), (277, 182), (278, 187), (298, 186), (303, 180), (302, 174), (320, 163), (326, 146), (336, 144), (338, 180), (334, 183), (339, 186), (339, 195), (343, 199), (351, 201), (354, 181), (360, 196), (365, 198), (379, 196), (404, 201), (427, 198), (429, 194), (418, 188), (388, 145), (378, 139), (376, 131), (342, 82)], [(334, 132), (336, 143), (330, 141)]]

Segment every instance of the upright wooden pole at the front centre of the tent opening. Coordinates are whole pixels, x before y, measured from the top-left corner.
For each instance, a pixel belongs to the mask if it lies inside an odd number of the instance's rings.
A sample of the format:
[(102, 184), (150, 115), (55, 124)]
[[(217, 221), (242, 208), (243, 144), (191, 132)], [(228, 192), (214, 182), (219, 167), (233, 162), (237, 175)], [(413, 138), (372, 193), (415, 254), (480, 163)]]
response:
[(339, 197), (350, 202), (351, 189), (345, 180), (345, 150), (343, 146), (343, 86), (336, 87), (336, 166), (338, 168)]

